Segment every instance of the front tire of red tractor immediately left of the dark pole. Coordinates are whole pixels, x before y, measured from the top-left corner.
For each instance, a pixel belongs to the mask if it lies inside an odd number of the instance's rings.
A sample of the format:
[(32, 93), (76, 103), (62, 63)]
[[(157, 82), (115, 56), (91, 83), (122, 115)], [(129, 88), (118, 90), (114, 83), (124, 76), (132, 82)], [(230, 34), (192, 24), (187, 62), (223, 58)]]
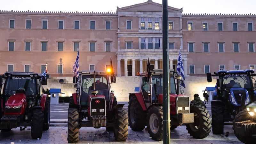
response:
[(149, 136), (156, 141), (163, 140), (163, 107), (153, 106), (147, 114), (147, 126)]

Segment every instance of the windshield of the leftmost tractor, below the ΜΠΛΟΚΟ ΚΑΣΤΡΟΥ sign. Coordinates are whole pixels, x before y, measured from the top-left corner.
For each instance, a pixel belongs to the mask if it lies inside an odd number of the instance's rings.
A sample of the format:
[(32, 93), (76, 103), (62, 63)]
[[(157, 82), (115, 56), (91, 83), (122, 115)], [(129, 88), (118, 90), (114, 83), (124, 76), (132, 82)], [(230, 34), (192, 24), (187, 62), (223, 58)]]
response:
[(36, 81), (30, 76), (12, 76), (5, 81), (4, 93), (11, 96), (17, 90), (24, 90), (26, 96), (36, 95)]

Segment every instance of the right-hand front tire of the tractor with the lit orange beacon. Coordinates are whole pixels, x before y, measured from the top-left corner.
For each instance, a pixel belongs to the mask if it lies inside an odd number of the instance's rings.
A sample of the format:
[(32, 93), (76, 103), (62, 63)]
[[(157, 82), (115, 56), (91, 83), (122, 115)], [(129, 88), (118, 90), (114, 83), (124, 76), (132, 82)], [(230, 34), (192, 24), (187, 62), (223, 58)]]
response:
[(128, 112), (125, 108), (115, 110), (114, 136), (116, 141), (125, 141), (128, 137)]

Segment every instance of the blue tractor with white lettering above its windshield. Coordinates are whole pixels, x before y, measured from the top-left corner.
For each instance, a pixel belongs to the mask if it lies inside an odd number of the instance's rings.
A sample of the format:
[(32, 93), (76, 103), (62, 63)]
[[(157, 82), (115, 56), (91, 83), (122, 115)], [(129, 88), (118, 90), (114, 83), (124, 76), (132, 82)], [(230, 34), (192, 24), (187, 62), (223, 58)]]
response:
[[(220, 70), (207, 73), (207, 81), (217, 79), (212, 98), (212, 133), (222, 134), (224, 124), (232, 125), (239, 111), (256, 100), (254, 70)], [(253, 84), (254, 83), (254, 84)]]

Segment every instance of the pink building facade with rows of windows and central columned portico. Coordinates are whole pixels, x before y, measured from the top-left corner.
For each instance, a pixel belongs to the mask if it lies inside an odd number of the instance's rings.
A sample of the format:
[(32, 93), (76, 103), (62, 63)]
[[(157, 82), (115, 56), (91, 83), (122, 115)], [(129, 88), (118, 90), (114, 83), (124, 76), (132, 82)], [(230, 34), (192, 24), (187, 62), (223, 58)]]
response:
[[(0, 73), (48, 64), (52, 79), (71, 83), (76, 50), (80, 70), (104, 71), (110, 57), (118, 77), (162, 68), (162, 5), (148, 0), (115, 13), (0, 11)], [(168, 8), (169, 64), (179, 50), (186, 77), (220, 69), (254, 69), (255, 14), (184, 14)], [(160, 44), (159, 44), (160, 43)]]

